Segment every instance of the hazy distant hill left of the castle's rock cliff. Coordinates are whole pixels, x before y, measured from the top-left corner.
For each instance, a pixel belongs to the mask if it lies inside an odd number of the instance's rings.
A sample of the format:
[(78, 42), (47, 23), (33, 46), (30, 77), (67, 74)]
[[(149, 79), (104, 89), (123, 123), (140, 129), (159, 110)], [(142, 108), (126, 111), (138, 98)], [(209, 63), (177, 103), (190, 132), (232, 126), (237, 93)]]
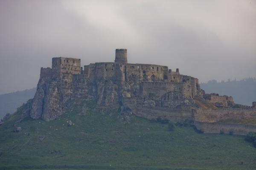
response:
[(6, 113), (14, 113), (18, 107), (35, 95), (36, 88), (0, 95), (0, 119)]

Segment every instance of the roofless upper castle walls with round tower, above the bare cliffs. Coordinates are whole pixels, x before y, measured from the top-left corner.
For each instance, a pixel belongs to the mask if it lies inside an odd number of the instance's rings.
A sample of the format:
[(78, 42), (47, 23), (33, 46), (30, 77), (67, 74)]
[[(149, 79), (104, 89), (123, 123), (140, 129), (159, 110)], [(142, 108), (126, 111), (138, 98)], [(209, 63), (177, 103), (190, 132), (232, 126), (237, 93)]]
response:
[[(59, 74), (85, 74), (91, 81), (125, 81), (125, 82), (188, 82), (191, 87), (189, 94), (196, 95), (198, 79), (180, 75), (179, 69), (172, 71), (167, 66), (151, 64), (127, 63), (127, 50), (116, 49), (115, 62), (96, 62), (84, 65), (81, 60), (74, 58), (52, 58), (52, 73)], [(184, 89), (184, 87), (183, 87)], [(186, 93), (184, 93), (186, 94)], [(191, 96), (191, 95), (190, 95)]]

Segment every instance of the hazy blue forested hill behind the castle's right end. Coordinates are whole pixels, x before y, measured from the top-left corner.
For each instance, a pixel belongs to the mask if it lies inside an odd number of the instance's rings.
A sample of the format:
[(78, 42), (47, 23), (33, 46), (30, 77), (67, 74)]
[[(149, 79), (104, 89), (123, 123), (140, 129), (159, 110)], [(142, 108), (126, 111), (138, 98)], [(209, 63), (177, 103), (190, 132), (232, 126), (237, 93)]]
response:
[(235, 103), (252, 105), (256, 101), (256, 78), (246, 78), (239, 81), (230, 79), (227, 82), (211, 80), (201, 83), (201, 88), (206, 93), (218, 93), (220, 95), (233, 96)]

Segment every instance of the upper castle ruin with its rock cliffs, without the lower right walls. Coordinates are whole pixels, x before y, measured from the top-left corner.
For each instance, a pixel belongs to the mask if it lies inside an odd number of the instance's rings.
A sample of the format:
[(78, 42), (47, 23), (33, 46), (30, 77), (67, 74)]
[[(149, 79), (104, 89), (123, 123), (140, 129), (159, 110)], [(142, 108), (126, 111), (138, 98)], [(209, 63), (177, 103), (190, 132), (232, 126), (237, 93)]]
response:
[(29, 115), (33, 119), (56, 119), (64, 105), (76, 99), (95, 100), (108, 108), (189, 108), (195, 96), (204, 96), (198, 79), (181, 75), (179, 69), (131, 64), (127, 62), (127, 49), (115, 52), (115, 62), (96, 62), (84, 68), (80, 59), (52, 58), (52, 68), (41, 68)]

